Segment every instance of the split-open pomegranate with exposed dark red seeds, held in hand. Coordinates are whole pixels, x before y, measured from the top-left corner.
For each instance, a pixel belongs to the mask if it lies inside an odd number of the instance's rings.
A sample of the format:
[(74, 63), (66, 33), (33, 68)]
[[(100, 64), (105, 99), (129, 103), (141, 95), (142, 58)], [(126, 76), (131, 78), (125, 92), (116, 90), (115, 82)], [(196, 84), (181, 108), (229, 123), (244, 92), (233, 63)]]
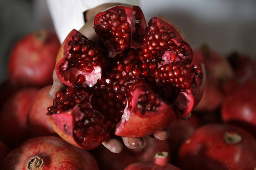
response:
[[(138, 6), (110, 8), (94, 20), (103, 45), (72, 30), (58, 52), (56, 74), (69, 86), (68, 96), (76, 96), (78, 91), (89, 96), (86, 108), (90, 105), (91, 115), (98, 115), (99, 126), (104, 125), (98, 129), (104, 129), (104, 133), (115, 130), (118, 136), (148, 136), (188, 115), (202, 97), (204, 65), (190, 64), (192, 50), (180, 30), (162, 16), (152, 18), (146, 28), (144, 23)], [(71, 92), (71, 88), (78, 91)], [(58, 92), (55, 100), (62, 103), (69, 98), (58, 97), (60, 93), (65, 92)], [(79, 131), (76, 134), (82, 144), (90, 140), (82, 130), (88, 119), (82, 120), (80, 130), (75, 130), (74, 124), (81, 119), (68, 117), (77, 117), (76, 108), (76, 104), (70, 105), (72, 112), (62, 114), (67, 108), (59, 105), (56, 112), (50, 107), (48, 119), (53, 127), (62, 129), (58, 134), (66, 134), (68, 141), (74, 131)], [(64, 125), (70, 133), (64, 132)], [(98, 135), (95, 130), (94, 133)], [(97, 142), (109, 137), (103, 136)]]

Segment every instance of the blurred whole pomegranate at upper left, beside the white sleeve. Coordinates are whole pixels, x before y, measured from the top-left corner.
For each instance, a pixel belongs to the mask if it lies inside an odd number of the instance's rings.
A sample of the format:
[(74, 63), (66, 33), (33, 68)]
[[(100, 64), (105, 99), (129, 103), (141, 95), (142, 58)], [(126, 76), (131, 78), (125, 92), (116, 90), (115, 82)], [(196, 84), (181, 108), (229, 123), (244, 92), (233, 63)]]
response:
[(52, 84), (59, 48), (56, 34), (47, 30), (32, 32), (18, 40), (12, 48), (8, 63), (11, 83), (16, 87)]

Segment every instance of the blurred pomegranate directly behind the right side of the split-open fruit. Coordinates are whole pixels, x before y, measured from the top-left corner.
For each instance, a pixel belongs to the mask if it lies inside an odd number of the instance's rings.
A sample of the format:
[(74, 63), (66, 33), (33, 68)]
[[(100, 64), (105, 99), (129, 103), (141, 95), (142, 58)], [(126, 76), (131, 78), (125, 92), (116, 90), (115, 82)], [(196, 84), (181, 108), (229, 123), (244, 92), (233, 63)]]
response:
[(195, 110), (213, 111), (218, 109), (225, 98), (224, 85), (233, 77), (231, 65), (226, 57), (206, 44), (193, 49), (192, 63), (204, 63), (207, 75), (202, 100)]

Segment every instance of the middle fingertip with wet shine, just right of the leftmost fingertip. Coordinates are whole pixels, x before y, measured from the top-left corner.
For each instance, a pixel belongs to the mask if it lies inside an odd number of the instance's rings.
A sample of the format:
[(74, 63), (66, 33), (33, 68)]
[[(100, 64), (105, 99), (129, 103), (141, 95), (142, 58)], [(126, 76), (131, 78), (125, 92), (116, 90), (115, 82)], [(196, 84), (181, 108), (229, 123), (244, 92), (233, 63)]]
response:
[(146, 142), (144, 138), (128, 138), (122, 137), (124, 145), (129, 149), (140, 149), (144, 148)]

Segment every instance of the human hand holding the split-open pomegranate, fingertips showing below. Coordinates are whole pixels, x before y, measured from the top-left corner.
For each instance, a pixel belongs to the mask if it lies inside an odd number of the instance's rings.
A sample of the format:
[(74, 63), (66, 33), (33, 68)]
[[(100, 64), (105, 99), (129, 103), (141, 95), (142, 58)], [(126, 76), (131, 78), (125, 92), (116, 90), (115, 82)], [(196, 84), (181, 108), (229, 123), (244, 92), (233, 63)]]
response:
[[(94, 26), (94, 17), (98, 12), (101, 12), (102, 10), (105, 10), (106, 8), (109, 8), (111, 6), (116, 6), (116, 5), (121, 5), (121, 4), (103, 4), (100, 5), (96, 8), (90, 9), (86, 11), (86, 23), (84, 26), (79, 30), (82, 34), (84, 34), (88, 39), (98, 42), (98, 37), (96, 33), (94, 32), (93, 26)], [(123, 4), (122, 4), (123, 5)], [(126, 6), (129, 6), (125, 4)], [(58, 60), (58, 59), (57, 59)], [(50, 97), (52, 99), (55, 98), (55, 94), (57, 91), (64, 90), (66, 86), (58, 79), (56, 72), (54, 70), (53, 72), (53, 85), (52, 88), (49, 91)], [(184, 119), (187, 119), (190, 117), (188, 115)], [(169, 136), (169, 131), (164, 129), (159, 132), (156, 132), (152, 135), (150, 135), (153, 138), (157, 138), (159, 140), (165, 140)], [(108, 148), (111, 152), (118, 153), (122, 151), (123, 144), (130, 149), (135, 149), (135, 148), (143, 148), (146, 143), (143, 137), (141, 138), (128, 138), (128, 137), (118, 137), (118, 136), (113, 136), (107, 141), (102, 142), (102, 144)]]

